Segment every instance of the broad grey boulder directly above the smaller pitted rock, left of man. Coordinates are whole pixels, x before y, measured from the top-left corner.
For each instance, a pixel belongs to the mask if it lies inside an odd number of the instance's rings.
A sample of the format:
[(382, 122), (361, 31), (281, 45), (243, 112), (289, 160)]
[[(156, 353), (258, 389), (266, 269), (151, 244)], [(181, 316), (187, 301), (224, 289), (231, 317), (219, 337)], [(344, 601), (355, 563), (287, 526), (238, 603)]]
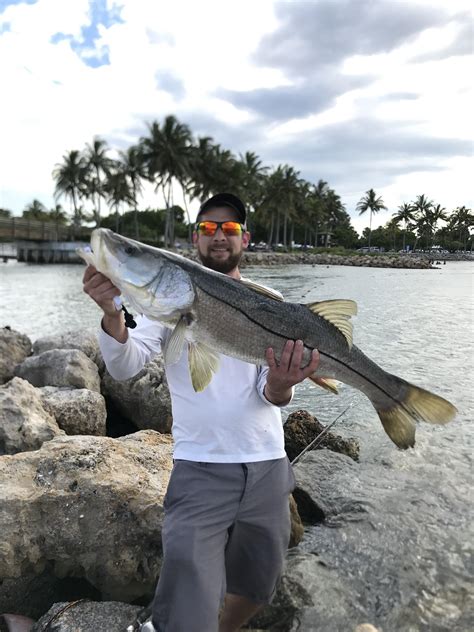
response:
[(27, 358), (15, 375), (33, 386), (72, 386), (100, 393), (97, 365), (78, 349), (54, 349)]

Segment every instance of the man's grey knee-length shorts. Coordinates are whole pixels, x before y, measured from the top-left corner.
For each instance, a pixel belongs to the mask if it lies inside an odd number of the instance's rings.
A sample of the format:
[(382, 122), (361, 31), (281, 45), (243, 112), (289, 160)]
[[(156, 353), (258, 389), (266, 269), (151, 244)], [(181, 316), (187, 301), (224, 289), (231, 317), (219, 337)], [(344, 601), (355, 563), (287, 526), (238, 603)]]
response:
[(176, 461), (166, 493), (159, 632), (214, 632), (226, 592), (268, 603), (290, 537), (288, 459)]

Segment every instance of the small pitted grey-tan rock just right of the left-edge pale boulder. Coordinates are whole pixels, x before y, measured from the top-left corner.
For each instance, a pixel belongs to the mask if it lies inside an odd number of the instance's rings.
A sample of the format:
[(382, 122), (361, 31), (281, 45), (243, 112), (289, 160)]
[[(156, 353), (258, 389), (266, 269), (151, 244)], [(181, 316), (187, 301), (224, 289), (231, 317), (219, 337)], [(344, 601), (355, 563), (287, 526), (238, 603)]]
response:
[(106, 434), (107, 411), (100, 393), (86, 388), (58, 388), (44, 386), (39, 389), (43, 406), (56, 419), (68, 435)]

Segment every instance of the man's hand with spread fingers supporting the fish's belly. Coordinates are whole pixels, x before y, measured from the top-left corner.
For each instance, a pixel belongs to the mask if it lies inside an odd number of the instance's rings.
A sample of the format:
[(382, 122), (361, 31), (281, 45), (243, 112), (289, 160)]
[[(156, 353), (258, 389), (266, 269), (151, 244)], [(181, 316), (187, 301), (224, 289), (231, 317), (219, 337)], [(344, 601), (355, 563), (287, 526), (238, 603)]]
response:
[(265, 357), (269, 366), (265, 397), (273, 404), (285, 404), (291, 399), (292, 388), (312, 375), (319, 364), (319, 353), (316, 349), (311, 354), (310, 363), (301, 368), (304, 344), (302, 340), (287, 340), (277, 363), (272, 348), (267, 349)]

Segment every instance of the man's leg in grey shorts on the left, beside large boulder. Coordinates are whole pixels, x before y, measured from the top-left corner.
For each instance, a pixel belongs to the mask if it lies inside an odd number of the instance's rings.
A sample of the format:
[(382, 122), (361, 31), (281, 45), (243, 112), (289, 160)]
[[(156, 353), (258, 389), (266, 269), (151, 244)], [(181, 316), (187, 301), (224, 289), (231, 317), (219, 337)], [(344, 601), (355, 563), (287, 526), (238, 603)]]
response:
[(245, 483), (239, 465), (177, 461), (165, 500), (158, 632), (217, 632), (224, 552)]

